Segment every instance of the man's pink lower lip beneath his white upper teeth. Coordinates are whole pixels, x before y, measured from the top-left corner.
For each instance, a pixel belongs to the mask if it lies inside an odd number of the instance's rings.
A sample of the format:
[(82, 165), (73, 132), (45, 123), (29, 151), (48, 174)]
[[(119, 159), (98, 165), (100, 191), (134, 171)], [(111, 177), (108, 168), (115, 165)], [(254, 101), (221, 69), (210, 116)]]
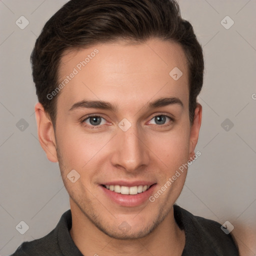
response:
[(146, 191), (137, 194), (121, 194), (111, 191), (104, 186), (100, 185), (103, 192), (115, 203), (121, 206), (138, 206), (148, 200), (149, 196), (152, 194), (153, 189), (156, 184), (151, 185)]

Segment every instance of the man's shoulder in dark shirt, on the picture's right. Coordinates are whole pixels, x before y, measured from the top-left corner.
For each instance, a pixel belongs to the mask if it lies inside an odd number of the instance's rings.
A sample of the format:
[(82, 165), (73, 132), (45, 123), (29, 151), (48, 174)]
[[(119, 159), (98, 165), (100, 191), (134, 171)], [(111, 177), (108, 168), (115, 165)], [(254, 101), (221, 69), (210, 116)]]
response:
[[(208, 251), (208, 255), (238, 256), (238, 248), (231, 233), (226, 234), (221, 224), (204, 217), (195, 216), (174, 204), (174, 216), (177, 224), (185, 230), (185, 251)], [(189, 254), (193, 255), (193, 254)], [(198, 253), (198, 255), (200, 255)]]

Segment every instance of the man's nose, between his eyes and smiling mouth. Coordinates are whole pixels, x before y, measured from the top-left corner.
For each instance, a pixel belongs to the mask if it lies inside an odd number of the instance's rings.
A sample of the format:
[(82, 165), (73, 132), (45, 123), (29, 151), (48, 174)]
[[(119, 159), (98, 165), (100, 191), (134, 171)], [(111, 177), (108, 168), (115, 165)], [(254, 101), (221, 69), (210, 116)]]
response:
[(111, 163), (123, 168), (126, 172), (138, 171), (149, 163), (149, 149), (146, 147), (146, 137), (135, 125), (128, 130), (118, 129), (112, 141), (113, 151)]

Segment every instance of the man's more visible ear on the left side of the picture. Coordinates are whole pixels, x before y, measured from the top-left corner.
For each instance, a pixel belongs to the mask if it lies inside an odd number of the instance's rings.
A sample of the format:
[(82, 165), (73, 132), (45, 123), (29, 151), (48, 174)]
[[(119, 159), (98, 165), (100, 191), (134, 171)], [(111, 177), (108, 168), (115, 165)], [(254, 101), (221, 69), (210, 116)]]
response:
[(36, 103), (34, 110), (37, 123), (37, 134), (41, 147), (50, 161), (57, 162), (56, 141), (52, 122), (48, 118), (41, 103)]

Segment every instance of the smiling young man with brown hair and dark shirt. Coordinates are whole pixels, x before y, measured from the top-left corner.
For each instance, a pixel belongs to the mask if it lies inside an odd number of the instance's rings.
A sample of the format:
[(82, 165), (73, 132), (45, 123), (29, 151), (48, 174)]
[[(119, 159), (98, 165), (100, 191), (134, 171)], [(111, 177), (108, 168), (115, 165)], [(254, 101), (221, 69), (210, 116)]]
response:
[(31, 62), (38, 138), (70, 209), (13, 255), (238, 255), (219, 223), (174, 204), (200, 154), (203, 81), (174, 0), (71, 0)]

